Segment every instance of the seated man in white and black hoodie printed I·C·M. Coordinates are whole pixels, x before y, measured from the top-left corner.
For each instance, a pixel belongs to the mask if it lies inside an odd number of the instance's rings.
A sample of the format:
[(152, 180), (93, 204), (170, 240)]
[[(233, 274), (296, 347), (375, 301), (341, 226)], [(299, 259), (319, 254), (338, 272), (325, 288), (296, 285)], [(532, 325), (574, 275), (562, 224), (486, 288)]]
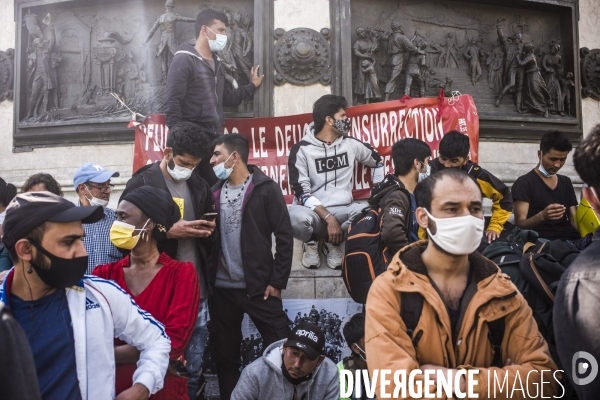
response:
[(294, 192), (290, 220), (294, 238), (304, 242), (302, 265), (316, 269), (321, 265), (318, 242), (324, 239), (327, 266), (342, 267), (342, 250), (348, 225), (365, 204), (352, 198), (354, 162), (373, 169), (373, 183), (383, 180), (381, 156), (368, 143), (348, 136), (348, 103), (341, 96), (328, 94), (313, 105), (314, 122), (304, 138), (290, 151), (289, 185)]

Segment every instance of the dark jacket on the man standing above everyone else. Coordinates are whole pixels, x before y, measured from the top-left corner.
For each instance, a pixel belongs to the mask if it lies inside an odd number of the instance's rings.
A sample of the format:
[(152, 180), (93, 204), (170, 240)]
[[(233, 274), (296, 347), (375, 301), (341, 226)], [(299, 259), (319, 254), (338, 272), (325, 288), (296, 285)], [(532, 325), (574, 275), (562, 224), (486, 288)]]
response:
[(213, 61), (214, 71), (194, 46), (189, 43), (179, 46), (169, 66), (165, 89), (164, 109), (169, 129), (187, 121), (220, 134), (225, 125), (223, 106), (238, 106), (254, 94), (253, 83), (225, 90), (221, 59), (213, 54)]

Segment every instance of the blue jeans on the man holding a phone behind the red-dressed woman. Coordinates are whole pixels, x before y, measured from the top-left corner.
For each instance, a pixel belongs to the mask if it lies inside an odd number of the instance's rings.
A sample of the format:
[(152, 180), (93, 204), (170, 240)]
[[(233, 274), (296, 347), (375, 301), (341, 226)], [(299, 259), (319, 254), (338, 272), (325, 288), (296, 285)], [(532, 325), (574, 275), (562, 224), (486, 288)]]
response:
[(186, 367), (194, 378), (188, 379), (188, 396), (190, 400), (196, 399), (198, 392), (200, 369), (202, 367), (202, 357), (204, 356), (204, 347), (206, 346), (208, 323), (208, 298), (200, 300), (200, 309), (198, 310), (198, 319), (192, 332), (192, 337), (185, 349)]

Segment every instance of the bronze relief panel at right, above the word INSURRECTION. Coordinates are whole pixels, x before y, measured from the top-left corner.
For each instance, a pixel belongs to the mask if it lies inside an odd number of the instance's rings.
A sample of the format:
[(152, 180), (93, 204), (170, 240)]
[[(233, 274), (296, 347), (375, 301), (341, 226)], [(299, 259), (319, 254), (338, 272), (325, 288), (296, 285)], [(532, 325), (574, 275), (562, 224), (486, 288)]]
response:
[(443, 89), (471, 94), (484, 115), (575, 120), (573, 42), (560, 25), (552, 12), (352, 0), (353, 103)]

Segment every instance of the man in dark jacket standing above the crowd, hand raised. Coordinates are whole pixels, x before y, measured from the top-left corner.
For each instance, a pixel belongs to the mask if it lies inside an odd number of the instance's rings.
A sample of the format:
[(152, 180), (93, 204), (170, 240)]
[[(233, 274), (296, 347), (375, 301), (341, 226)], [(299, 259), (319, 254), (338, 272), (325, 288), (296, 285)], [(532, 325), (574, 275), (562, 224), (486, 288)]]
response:
[[(223, 107), (238, 106), (252, 97), (262, 83), (258, 76), (259, 65), (250, 72), (250, 83), (233, 90), (225, 90), (225, 69), (215, 52), (227, 44), (227, 16), (219, 11), (204, 10), (196, 17), (196, 45), (179, 46), (169, 66), (165, 89), (165, 114), (169, 129), (182, 121), (193, 122), (220, 135), (225, 125)], [(208, 150), (208, 149), (206, 149)], [(205, 158), (196, 173), (209, 185), (217, 178)]]

